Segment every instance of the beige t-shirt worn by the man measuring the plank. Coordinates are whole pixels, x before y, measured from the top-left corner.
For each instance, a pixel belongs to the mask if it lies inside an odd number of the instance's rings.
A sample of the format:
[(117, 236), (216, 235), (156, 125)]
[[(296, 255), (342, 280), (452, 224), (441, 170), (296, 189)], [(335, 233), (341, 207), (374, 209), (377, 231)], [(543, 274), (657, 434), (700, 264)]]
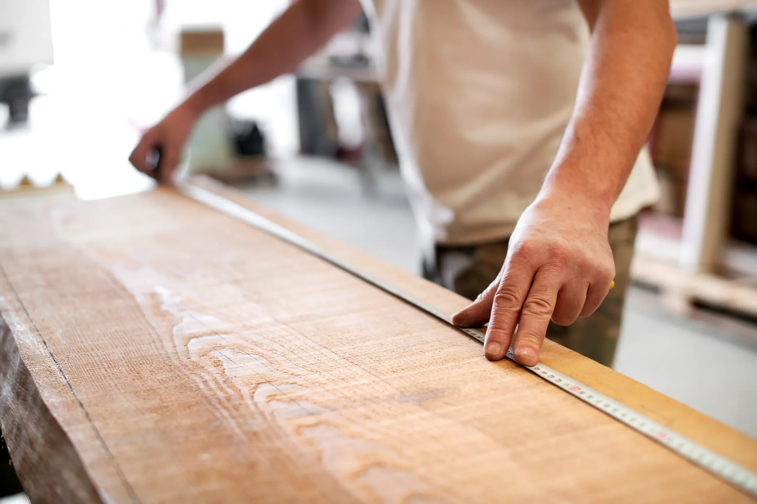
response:
[[(589, 41), (575, 0), (374, 0), (366, 11), (422, 237), (508, 237), (572, 114)], [(611, 219), (658, 195), (644, 150)]]

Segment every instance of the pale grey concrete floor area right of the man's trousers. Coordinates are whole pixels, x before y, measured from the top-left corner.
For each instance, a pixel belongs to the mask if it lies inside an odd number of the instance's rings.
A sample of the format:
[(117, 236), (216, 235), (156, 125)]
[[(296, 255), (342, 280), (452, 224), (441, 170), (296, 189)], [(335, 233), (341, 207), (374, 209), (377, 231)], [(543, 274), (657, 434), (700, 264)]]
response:
[(757, 328), (725, 316), (667, 313), (631, 291), (615, 369), (757, 437)]

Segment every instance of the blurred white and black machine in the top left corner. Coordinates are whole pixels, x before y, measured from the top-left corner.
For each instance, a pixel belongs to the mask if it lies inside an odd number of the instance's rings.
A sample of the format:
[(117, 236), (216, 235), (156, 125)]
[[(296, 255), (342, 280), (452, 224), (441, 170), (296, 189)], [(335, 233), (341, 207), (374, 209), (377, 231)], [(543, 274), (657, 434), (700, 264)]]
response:
[(8, 105), (9, 126), (26, 122), (30, 70), (52, 56), (48, 0), (0, 0), (0, 102)]

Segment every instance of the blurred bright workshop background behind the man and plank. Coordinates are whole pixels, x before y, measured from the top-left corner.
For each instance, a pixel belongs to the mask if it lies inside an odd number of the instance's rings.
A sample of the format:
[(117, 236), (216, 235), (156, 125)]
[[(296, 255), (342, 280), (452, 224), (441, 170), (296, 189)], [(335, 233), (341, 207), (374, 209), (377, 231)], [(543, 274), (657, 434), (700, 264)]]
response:
[[(105, 198), (188, 82), (288, 0), (0, 0), (0, 198)], [(674, 0), (668, 89), (615, 369), (757, 437), (757, 2)], [(185, 170), (419, 272), (365, 20), (198, 124)], [(549, 55), (545, 54), (545, 58)], [(2, 232), (2, 230), (0, 230)]]

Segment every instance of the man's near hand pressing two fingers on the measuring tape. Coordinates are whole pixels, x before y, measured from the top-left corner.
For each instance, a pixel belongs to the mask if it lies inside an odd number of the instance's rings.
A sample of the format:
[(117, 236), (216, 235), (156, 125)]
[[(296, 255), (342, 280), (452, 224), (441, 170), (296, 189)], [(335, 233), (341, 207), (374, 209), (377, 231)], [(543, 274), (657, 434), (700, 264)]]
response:
[(570, 325), (578, 316), (589, 316), (609, 291), (615, 265), (608, 216), (576, 194), (534, 201), (510, 237), (497, 279), (455, 313), (453, 323), (480, 327), (489, 322), (487, 359), (502, 359), (512, 342), (516, 362), (535, 366), (550, 319)]

